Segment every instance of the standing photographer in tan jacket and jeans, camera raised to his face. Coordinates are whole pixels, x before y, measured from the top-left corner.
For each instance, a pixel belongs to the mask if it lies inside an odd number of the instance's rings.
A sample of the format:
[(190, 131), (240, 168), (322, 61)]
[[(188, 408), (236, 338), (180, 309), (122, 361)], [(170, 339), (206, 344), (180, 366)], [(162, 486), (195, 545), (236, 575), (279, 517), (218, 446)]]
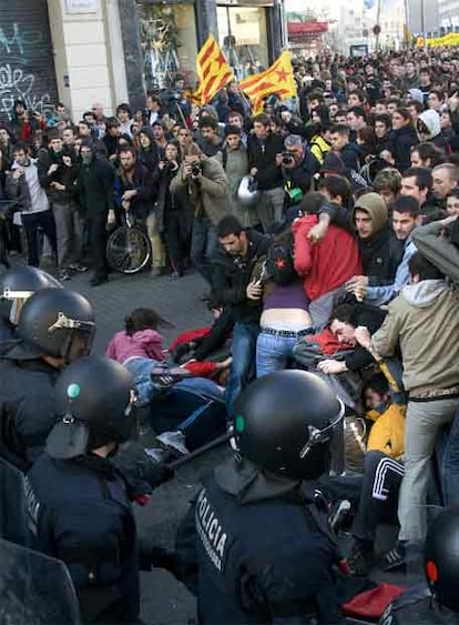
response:
[(171, 182), (171, 193), (187, 190), (194, 208), (191, 259), (201, 275), (212, 285), (211, 259), (217, 246), (215, 225), (228, 213), (226, 175), (216, 159), (207, 159), (192, 143), (178, 173)]

